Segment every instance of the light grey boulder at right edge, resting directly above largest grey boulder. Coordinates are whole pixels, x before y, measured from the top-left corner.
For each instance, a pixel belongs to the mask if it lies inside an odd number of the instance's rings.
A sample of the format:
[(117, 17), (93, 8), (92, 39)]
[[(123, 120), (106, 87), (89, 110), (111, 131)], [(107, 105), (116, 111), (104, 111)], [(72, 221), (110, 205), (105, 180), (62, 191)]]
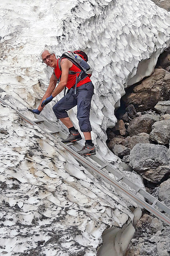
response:
[(166, 145), (170, 142), (170, 119), (155, 122), (152, 125), (152, 132), (149, 134), (152, 141)]

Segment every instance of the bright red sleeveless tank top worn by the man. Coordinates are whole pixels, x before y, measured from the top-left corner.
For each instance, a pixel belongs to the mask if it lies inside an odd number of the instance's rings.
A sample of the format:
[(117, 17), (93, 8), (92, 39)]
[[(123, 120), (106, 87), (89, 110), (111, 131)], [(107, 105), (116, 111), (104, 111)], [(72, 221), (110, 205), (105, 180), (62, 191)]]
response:
[[(57, 77), (57, 79), (59, 80), (59, 77), (61, 76), (61, 70), (59, 69), (59, 65), (58, 65), (59, 60), (57, 60), (57, 67), (55, 68), (55, 75)], [(69, 68), (70, 71), (74, 71), (74, 72), (81, 72), (80, 68), (78, 68), (76, 65), (72, 64), (72, 67)], [(78, 74), (77, 74), (78, 76)], [(86, 78), (84, 78), (83, 80), (81, 80), (80, 82), (78, 82), (77, 87), (86, 84), (88, 82), (91, 82), (90, 78), (87, 76)], [(68, 74), (68, 81), (66, 84), (66, 87), (68, 89), (72, 88), (72, 86), (74, 86), (74, 84), (76, 83), (76, 74)]]

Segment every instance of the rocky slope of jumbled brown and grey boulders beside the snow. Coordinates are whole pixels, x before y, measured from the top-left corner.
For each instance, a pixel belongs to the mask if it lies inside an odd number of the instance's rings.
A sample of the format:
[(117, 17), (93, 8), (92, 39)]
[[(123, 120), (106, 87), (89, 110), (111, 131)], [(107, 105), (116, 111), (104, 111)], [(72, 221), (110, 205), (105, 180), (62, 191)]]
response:
[[(149, 77), (121, 100), (118, 122), (107, 130), (108, 146), (144, 178), (147, 190), (170, 207), (170, 50)], [(168, 256), (169, 226), (145, 213), (135, 227), (126, 256)]]

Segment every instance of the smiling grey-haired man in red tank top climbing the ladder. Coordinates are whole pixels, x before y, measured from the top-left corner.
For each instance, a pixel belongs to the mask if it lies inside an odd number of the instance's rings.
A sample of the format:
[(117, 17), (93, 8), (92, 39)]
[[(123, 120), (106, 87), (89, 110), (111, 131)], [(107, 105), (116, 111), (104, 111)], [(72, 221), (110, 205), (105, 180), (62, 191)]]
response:
[[(83, 132), (86, 140), (85, 146), (83, 146), (82, 150), (78, 151), (78, 154), (82, 156), (96, 154), (94, 144), (92, 143), (92, 127), (89, 120), (91, 100), (94, 94), (94, 87), (90, 78), (87, 76), (83, 80), (80, 80), (77, 83), (76, 94), (74, 94), (73, 88), (76, 83), (76, 74), (69, 74), (69, 71), (73, 71), (74, 73), (80, 72), (81, 70), (66, 58), (61, 59), (60, 70), (58, 65), (59, 60), (56, 58), (55, 54), (53, 52), (49, 52), (49, 50), (44, 50), (41, 57), (47, 66), (54, 69), (54, 72), (50, 78), (49, 86), (41, 100), (39, 107), (30, 111), (35, 114), (40, 114), (44, 106), (51, 102), (55, 96), (57, 96), (65, 87), (67, 87), (67, 94), (53, 106), (55, 116), (60, 119), (61, 122), (63, 122), (70, 132), (66, 140), (62, 140), (62, 142), (66, 144), (82, 139), (80, 133), (78, 130), (76, 130), (76, 128), (74, 128), (67, 114), (68, 110), (77, 105), (77, 118), (79, 121), (80, 130)], [(61, 78), (61, 80), (56, 86), (59, 78)]]

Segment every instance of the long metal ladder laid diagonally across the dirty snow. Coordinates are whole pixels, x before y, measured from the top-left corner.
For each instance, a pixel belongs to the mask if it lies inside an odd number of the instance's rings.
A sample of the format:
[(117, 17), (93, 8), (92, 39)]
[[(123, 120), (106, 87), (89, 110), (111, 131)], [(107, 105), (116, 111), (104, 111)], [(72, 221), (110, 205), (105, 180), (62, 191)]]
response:
[[(2, 92), (5, 92), (6, 94), (8, 94), (8, 92), (0, 88), (0, 93)], [(16, 104), (16, 107), (14, 107), (14, 105), (11, 104), (10, 99), (18, 103)], [(168, 208), (165, 204), (160, 202), (158, 199), (154, 198), (154, 196), (150, 195), (143, 188), (140, 188), (139, 186), (137, 186), (133, 181), (129, 180), (121, 172), (115, 170), (115, 168), (113, 168), (111, 164), (107, 164), (96, 155), (83, 157), (77, 154), (72, 148), (70, 148), (70, 145), (73, 145), (73, 143), (63, 144), (61, 142), (61, 139), (65, 139), (67, 137), (66, 134), (64, 134), (64, 132), (62, 132), (61, 130), (57, 130), (53, 124), (51, 124), (45, 118), (37, 114), (33, 114), (34, 117), (36, 116), (36, 118), (34, 118), (33, 120), (27, 118), (27, 116), (25, 116), (25, 114), (22, 113), (22, 112), (25, 112), (25, 110), (27, 110), (27, 106), (25, 106), (22, 102), (20, 102), (10, 94), (8, 94), (3, 99), (0, 98), (0, 102), (2, 104), (8, 105), (11, 108), (15, 109), (17, 114), (29, 124), (39, 126), (39, 128), (43, 130), (43, 132), (51, 136), (53, 140), (56, 140), (59, 144), (63, 146), (64, 149), (66, 149), (70, 154), (72, 154), (72, 156), (74, 156), (76, 160), (78, 160), (84, 166), (86, 166), (87, 168), (89, 168), (90, 170), (98, 174), (98, 176), (104, 178), (107, 182), (109, 182), (109, 184), (113, 185), (115, 188), (123, 192), (123, 194), (125, 194), (126, 196), (134, 200), (137, 204), (139, 204), (140, 206), (148, 210), (150, 213), (152, 213), (154, 216), (156, 216), (157, 218), (159, 218), (160, 220), (162, 220), (163, 222), (165, 222), (170, 226), (170, 218), (169, 218), (170, 208)], [(17, 106), (21, 106), (21, 107), (18, 108)], [(81, 148), (80, 144), (78, 144), (77, 142), (74, 143), (74, 147), (77, 150), (80, 150)], [(102, 170), (104, 169), (110, 172), (111, 174), (113, 174), (116, 177), (116, 179), (111, 178), (108, 174), (106, 174), (106, 171), (103, 172)], [(120, 181), (121, 183), (123, 182), (127, 184), (133, 190), (133, 192), (131, 192), (130, 190), (125, 188), (125, 186), (120, 184)], [(139, 196), (137, 196), (137, 194), (140, 194), (141, 196), (143, 196), (148, 202), (141, 199)], [(157, 208), (155, 208), (155, 206), (157, 206)], [(158, 210), (158, 208), (160, 210)], [(161, 210), (165, 214), (162, 213)]]

